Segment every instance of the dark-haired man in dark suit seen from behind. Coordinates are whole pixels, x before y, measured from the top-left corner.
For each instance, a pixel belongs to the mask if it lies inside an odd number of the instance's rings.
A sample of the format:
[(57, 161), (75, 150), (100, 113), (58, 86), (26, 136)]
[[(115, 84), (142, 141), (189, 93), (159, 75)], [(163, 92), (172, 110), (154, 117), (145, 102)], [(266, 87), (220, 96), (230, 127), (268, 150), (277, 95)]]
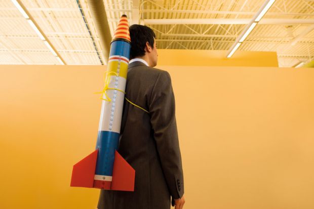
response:
[(183, 208), (183, 171), (175, 98), (167, 71), (153, 68), (158, 53), (147, 26), (130, 27), (131, 53), (119, 153), (135, 170), (134, 192), (101, 190), (99, 209)]

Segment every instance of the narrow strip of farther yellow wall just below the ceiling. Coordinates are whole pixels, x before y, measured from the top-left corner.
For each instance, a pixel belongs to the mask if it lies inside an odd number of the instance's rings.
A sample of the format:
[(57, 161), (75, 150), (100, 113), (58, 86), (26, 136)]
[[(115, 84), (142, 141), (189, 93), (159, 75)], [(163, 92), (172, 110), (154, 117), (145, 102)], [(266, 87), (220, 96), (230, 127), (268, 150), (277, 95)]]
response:
[(236, 51), (226, 58), (223, 50), (158, 50), (159, 65), (278, 67), (277, 52)]

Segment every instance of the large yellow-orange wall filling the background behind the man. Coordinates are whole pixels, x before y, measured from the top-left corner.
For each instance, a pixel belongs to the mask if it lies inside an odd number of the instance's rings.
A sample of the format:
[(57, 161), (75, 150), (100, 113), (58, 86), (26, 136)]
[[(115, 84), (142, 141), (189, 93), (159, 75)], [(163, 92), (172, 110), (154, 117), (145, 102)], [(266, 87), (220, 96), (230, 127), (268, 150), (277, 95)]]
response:
[[(314, 208), (314, 71), (164, 66), (186, 209)], [(0, 208), (95, 208), (71, 188), (95, 148), (101, 66), (0, 66)]]

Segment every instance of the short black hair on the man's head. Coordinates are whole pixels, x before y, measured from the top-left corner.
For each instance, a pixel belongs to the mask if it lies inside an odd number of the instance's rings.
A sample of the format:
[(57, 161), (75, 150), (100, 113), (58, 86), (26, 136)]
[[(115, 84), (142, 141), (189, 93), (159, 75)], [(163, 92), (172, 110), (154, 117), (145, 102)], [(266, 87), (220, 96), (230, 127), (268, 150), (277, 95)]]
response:
[(153, 48), (154, 38), (156, 37), (154, 31), (145, 25), (131, 25), (131, 52), (130, 60), (135, 57), (142, 57), (145, 55), (145, 45), (148, 41), (149, 46)]

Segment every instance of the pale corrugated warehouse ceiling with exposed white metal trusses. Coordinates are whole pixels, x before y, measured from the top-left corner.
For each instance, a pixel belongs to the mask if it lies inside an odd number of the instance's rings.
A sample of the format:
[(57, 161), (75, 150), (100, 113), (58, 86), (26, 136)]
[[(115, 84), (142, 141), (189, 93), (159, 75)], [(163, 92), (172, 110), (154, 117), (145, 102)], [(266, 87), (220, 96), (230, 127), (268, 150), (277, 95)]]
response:
[[(101, 65), (86, 0), (20, 0), (68, 65)], [(111, 35), (122, 14), (148, 25), (159, 49), (230, 50), (264, 0), (104, 0)], [(11, 0), (0, 0), (0, 64), (61, 64)], [(314, 57), (314, 0), (277, 0), (240, 51), (277, 52), (280, 67)]]

